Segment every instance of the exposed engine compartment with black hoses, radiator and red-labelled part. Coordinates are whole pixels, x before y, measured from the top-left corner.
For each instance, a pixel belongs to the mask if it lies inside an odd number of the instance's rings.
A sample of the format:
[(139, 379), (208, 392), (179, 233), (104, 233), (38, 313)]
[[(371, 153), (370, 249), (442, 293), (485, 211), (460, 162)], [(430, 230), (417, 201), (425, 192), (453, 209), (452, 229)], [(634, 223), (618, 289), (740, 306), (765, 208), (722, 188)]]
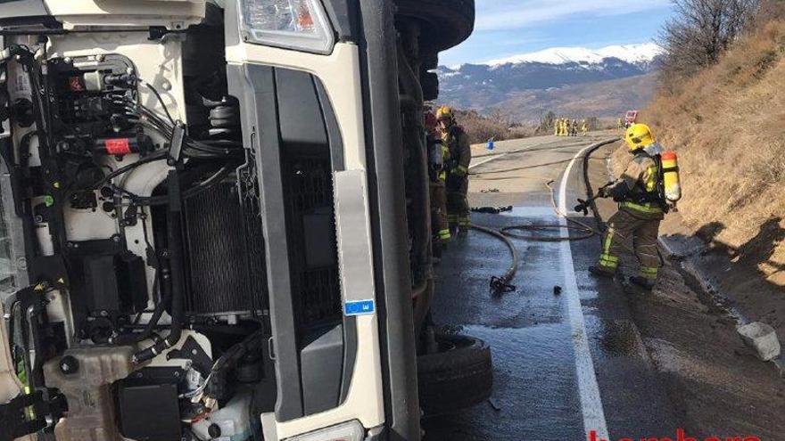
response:
[(249, 439), (275, 406), (257, 166), (212, 12), (5, 39), (6, 324), (58, 440)]

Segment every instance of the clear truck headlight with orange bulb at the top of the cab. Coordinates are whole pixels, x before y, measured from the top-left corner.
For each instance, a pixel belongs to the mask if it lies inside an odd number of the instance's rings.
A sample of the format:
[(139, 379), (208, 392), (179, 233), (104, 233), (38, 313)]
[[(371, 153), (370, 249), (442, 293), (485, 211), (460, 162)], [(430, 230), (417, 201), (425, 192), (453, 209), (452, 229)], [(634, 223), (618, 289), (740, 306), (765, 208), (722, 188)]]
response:
[(330, 53), (335, 35), (319, 0), (242, 0), (247, 41), (313, 53)]

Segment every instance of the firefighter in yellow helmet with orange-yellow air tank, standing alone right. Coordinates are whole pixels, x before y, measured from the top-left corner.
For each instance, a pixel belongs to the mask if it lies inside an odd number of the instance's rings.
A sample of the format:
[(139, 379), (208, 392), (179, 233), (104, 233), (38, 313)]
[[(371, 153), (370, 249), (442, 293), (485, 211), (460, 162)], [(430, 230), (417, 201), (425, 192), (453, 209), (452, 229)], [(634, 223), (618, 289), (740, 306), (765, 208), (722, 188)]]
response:
[(607, 221), (607, 232), (602, 238), (599, 263), (589, 272), (597, 276), (614, 277), (624, 241), (632, 239), (632, 247), (640, 262), (640, 274), (630, 282), (645, 290), (654, 288), (661, 259), (657, 251), (660, 222), (668, 209), (663, 194), (660, 154), (662, 147), (645, 124), (634, 124), (627, 129), (624, 140), (633, 157), (624, 174), (600, 191), (601, 197), (611, 197), (619, 209)]

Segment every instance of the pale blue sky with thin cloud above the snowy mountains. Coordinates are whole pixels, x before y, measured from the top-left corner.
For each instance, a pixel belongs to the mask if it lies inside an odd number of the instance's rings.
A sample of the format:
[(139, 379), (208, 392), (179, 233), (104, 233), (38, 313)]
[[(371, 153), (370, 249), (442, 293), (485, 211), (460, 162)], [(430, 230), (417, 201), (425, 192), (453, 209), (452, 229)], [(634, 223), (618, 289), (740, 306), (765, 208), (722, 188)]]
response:
[(647, 43), (671, 14), (670, 0), (475, 0), (475, 33), (440, 55), (453, 66), (554, 46)]

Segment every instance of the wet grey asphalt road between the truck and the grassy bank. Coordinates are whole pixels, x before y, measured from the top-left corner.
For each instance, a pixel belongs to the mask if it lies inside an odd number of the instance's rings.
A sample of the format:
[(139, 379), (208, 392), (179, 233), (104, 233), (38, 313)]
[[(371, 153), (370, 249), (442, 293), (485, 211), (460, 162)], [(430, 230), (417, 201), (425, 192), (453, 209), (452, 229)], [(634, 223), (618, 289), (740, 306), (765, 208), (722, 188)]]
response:
[[(581, 152), (612, 135), (497, 143), (494, 153), (507, 152), (498, 156), (479, 157), (482, 147), (475, 148), (471, 204), (514, 209), (474, 214), (473, 222), (497, 228), (564, 224), (545, 183), (555, 181), (557, 205), (571, 209), (585, 195)], [(494, 159), (485, 162), (489, 158)], [(590, 169), (601, 182), (605, 162), (591, 159)], [(500, 296), (492, 295), (488, 283), (508, 266), (502, 242), (473, 231), (445, 252), (434, 320), (491, 345), (494, 391), (492, 404), (426, 419), (426, 439), (576, 441), (590, 439), (592, 431), (598, 440), (674, 438), (673, 406), (632, 323), (625, 294), (615, 283), (587, 274), (599, 238), (516, 240), (516, 247), (521, 257), (512, 282), (516, 290)]]

